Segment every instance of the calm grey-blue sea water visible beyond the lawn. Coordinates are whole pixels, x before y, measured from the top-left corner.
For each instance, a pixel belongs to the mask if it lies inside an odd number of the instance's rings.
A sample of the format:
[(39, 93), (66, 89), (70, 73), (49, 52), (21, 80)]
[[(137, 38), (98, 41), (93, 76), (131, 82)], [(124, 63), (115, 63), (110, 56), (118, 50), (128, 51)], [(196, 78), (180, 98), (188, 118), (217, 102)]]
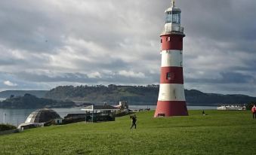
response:
[[(139, 110), (150, 108), (151, 110), (156, 109), (156, 105), (129, 105), (131, 110)], [(210, 110), (216, 109), (214, 106), (187, 106), (189, 110)], [(81, 107), (76, 108), (52, 108), (60, 117), (65, 117), (67, 114), (82, 114)], [(4, 123), (4, 114), (5, 114), (5, 123), (18, 126), (20, 123), (24, 123), (26, 117), (35, 111), (36, 109), (3, 109), (0, 108), (0, 123)]]

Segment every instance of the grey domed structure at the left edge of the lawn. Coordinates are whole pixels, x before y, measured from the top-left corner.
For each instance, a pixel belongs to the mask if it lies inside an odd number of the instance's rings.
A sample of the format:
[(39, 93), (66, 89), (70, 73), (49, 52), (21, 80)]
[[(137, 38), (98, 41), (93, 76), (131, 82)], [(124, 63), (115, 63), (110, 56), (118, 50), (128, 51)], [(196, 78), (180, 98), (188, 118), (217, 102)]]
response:
[(56, 111), (43, 108), (33, 111), (31, 114), (29, 114), (29, 117), (26, 118), (25, 123), (45, 123), (57, 118), (60, 118), (60, 115), (57, 114)]

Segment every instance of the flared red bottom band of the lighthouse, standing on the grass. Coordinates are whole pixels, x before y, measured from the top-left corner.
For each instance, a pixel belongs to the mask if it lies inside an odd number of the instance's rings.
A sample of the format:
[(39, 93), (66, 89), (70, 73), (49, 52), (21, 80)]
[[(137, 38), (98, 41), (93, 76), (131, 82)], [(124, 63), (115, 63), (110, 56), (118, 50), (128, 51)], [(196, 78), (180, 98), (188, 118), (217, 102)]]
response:
[(158, 101), (154, 117), (188, 116), (185, 101)]

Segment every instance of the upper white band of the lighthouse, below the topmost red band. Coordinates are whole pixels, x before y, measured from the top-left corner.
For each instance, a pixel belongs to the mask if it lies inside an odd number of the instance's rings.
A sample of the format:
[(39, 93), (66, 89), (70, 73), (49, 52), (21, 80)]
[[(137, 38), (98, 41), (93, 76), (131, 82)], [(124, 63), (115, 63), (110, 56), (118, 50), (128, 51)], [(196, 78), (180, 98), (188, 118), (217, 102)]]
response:
[(162, 50), (161, 67), (182, 67), (183, 56), (182, 50)]

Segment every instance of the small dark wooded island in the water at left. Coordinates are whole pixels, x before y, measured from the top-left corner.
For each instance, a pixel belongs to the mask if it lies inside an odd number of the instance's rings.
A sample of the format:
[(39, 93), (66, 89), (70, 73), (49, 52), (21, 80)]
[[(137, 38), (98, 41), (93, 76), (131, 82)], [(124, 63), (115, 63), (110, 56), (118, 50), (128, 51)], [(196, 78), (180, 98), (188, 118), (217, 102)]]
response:
[(42, 99), (30, 94), (24, 96), (11, 96), (0, 102), (0, 108), (69, 108), (75, 106), (74, 102)]

